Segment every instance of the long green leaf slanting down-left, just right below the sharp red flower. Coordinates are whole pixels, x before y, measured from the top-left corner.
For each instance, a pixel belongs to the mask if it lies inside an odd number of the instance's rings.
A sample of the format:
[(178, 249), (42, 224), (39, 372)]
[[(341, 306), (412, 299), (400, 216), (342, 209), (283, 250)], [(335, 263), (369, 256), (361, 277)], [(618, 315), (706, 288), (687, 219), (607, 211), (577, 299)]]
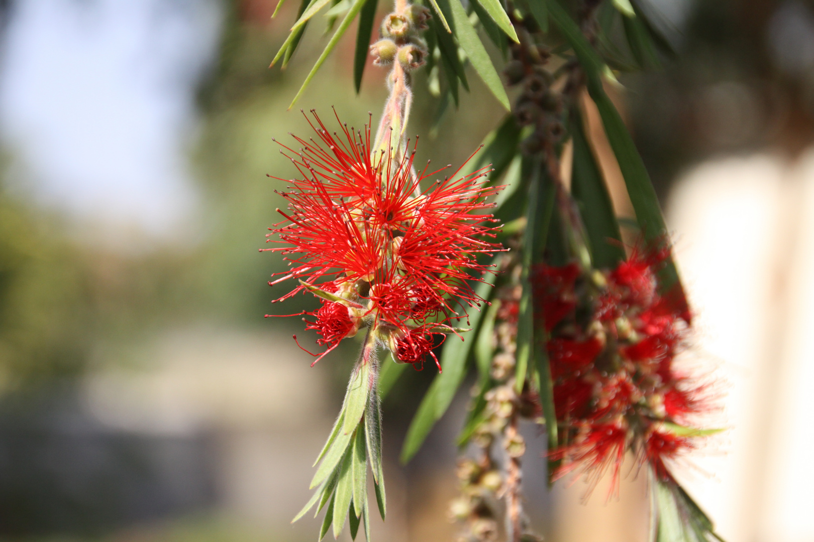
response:
[[(496, 278), (496, 275), (491, 273), (484, 275), (484, 282), (478, 284), (476, 289), (478, 297), (488, 300)], [(481, 307), (481, 310), (471, 311), (469, 324), (472, 331), (470, 333), (478, 332), (484, 310), (485, 307)], [(410, 423), (405, 443), (401, 448), (401, 462), (408, 462), (418, 452), (432, 426), (449, 408), (458, 386), (461, 385), (463, 377), (466, 375), (466, 360), (469, 358), (474, 342), (475, 340), (459, 340), (457, 336), (448, 337), (444, 351), (441, 353), (441, 367), (444, 372), (435, 377), (422, 399), (421, 405), (418, 405), (418, 412)]]

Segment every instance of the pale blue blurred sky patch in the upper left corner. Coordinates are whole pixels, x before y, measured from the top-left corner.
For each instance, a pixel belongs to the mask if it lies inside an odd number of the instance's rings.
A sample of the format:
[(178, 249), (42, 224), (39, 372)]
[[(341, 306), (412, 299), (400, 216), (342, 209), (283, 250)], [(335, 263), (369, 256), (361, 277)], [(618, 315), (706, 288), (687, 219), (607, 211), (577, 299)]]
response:
[(79, 222), (175, 236), (198, 200), (187, 155), (219, 2), (12, 4), (0, 52), (12, 187)]

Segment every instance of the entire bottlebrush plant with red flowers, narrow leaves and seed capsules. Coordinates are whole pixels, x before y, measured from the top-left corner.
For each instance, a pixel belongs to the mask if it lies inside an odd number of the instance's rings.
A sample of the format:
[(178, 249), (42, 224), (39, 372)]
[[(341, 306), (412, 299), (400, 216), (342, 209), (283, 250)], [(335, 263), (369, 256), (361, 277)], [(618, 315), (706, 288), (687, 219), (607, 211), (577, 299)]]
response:
[[(289, 269), (270, 284), (291, 284), (279, 300), (320, 297), (318, 310), (300, 313), (319, 336), (314, 362), (365, 334), (317, 458), (317, 491), (300, 516), (327, 505), (321, 538), (331, 526), (339, 535), (346, 517), (353, 536), (361, 524), (367, 534), (368, 464), (384, 515), (377, 349), (389, 349), (396, 363), (382, 371), (383, 388), (394, 382), (388, 374), (398, 374), (392, 367), (427, 359), (439, 366), (405, 438), (404, 462), (453, 401), (467, 367), (477, 368), (457, 439), (466, 453), (451, 512), (463, 524), (461, 540), (539, 540), (523, 511), (522, 419), (545, 427), (548, 452), (537, 460), (547, 461), (552, 482), (578, 471), (593, 488), (607, 471), (618, 479), (632, 455), (650, 474), (652, 540), (716, 538), (672, 474), (676, 459), (714, 432), (697, 428), (711, 410), (710, 388), (674, 363), (689, 340), (689, 307), (650, 177), (606, 93), (605, 84), (616, 83), (611, 67), (650, 66), (666, 43), (641, 2), (430, 0), (421, 7), (396, 0), (376, 40), (376, 0), (301, 2), (273, 64), (291, 60), (322, 7), (331, 6), (331, 25), (342, 20), (295, 102), (353, 20), (357, 92), (369, 52), (374, 64), (391, 68), (375, 133), (372, 119), (358, 129), (333, 121), (328, 128), (313, 114), (316, 137), (284, 146), (299, 176), (281, 191), (287, 208), (269, 239)], [(503, 55), (502, 81), (480, 29)], [(405, 127), (412, 77), (423, 66), (439, 117), (457, 106), (459, 89), (470, 88), (467, 74), (510, 111), (465, 169), (414, 164), (417, 147)], [(514, 105), (504, 83), (516, 87)], [(585, 129), (586, 105), (596, 107), (601, 127)], [(611, 167), (599, 167), (595, 156), (601, 128)], [(635, 250), (625, 248), (603, 174), (615, 165), (635, 214), (624, 221)]]

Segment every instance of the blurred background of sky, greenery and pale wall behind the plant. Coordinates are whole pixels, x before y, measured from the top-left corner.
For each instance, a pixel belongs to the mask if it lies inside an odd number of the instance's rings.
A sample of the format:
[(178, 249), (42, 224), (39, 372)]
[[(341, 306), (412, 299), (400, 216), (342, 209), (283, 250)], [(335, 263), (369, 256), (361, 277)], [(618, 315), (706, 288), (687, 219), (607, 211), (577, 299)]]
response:
[[(814, 6), (651, 2), (678, 54), (615, 95), (698, 314), (685, 361), (716, 371), (729, 428), (681, 474), (729, 542), (811, 541)], [(315, 520), (289, 521), (357, 345), (310, 368), (299, 320), (263, 318), (283, 291), (257, 251), (281, 206), (265, 174), (293, 175), (271, 138), (308, 133), (286, 107), (324, 43), (317, 21), (268, 69), (295, 3), (271, 20), (276, 0), (0, 2), (0, 540), (313, 540)], [(358, 96), (351, 72), (346, 39), (300, 106), (365, 122), (384, 72), (369, 65)], [(440, 117), (418, 81), (421, 159), (461, 163), (501, 118), (469, 79)], [(397, 462), (433, 374), (406, 371), (385, 401), (377, 540), (453, 540), (466, 386)], [(645, 540), (643, 476), (581, 505), (579, 482), (547, 490), (525, 432), (548, 540)]]

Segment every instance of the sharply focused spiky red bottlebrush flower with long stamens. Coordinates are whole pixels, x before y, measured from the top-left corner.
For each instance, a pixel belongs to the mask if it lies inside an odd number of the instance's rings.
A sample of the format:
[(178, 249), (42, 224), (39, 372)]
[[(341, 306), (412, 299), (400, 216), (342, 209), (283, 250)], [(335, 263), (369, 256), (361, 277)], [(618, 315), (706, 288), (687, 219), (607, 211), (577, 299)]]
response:
[(275, 301), (306, 290), (322, 298), (303, 314), (315, 319), (307, 329), (325, 353), (366, 326), (400, 362), (420, 364), (436, 338), (455, 332), (449, 322), (462, 314), (454, 305), (483, 301), (469, 281), (489, 271), (478, 256), (500, 249), (490, 241), (495, 220), (482, 212), (500, 187), (488, 185), (484, 168), (422, 189), (446, 168), (416, 173), (415, 147), (396, 159), (371, 152), (370, 124), (341, 124), (341, 135), (316, 114), (309, 124), (317, 140), (295, 137), (299, 151), (282, 145), (300, 178), (287, 181), (288, 208), (278, 209), (285, 220), (269, 228), (268, 242), (280, 246), (265, 249), (284, 254), (290, 269), (269, 284), (299, 284)]

